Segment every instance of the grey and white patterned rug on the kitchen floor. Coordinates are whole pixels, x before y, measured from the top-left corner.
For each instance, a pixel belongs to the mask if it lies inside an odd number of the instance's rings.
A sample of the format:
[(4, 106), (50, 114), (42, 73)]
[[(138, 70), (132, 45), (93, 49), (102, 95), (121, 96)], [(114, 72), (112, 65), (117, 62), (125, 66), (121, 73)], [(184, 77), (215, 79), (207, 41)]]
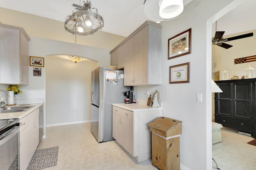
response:
[(36, 150), (27, 170), (41, 170), (57, 165), (59, 147)]

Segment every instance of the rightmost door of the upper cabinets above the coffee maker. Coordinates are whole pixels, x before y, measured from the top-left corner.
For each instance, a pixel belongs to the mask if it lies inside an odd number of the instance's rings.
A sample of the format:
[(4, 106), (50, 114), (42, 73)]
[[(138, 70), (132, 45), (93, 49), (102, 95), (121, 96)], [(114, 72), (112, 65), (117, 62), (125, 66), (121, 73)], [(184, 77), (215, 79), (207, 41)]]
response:
[(134, 35), (134, 85), (148, 84), (148, 25)]

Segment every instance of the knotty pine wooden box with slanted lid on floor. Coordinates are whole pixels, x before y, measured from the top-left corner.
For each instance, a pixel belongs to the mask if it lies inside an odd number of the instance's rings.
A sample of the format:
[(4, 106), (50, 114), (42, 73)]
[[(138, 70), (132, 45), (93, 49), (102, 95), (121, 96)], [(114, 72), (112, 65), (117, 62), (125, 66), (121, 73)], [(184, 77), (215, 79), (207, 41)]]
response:
[(152, 165), (161, 170), (180, 170), (180, 134), (182, 121), (159, 117), (152, 121)]

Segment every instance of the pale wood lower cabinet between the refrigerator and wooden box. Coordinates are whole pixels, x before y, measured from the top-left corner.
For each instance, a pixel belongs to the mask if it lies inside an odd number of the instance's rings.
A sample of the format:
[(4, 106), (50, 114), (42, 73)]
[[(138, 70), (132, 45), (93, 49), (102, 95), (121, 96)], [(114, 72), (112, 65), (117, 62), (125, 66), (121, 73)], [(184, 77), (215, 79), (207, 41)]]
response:
[(148, 124), (162, 110), (129, 111), (112, 106), (112, 136), (137, 162), (151, 158), (151, 133)]

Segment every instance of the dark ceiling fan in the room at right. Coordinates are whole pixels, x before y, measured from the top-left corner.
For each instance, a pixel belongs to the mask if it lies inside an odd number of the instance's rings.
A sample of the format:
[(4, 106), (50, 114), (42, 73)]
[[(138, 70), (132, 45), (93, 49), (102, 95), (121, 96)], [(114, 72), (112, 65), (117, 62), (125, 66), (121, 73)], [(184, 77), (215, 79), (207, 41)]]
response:
[(233, 45), (229, 45), (229, 44), (226, 44), (226, 43), (223, 43), (223, 42), (253, 36), (253, 33), (247, 33), (247, 34), (238, 35), (238, 36), (235, 36), (235, 37), (230, 37), (230, 38), (225, 38), (224, 39), (222, 37), (224, 33), (225, 33), (225, 31), (216, 31), (214, 38), (212, 38), (212, 45), (218, 45), (218, 46), (223, 47), (225, 49), (229, 49), (230, 47), (233, 47)]

